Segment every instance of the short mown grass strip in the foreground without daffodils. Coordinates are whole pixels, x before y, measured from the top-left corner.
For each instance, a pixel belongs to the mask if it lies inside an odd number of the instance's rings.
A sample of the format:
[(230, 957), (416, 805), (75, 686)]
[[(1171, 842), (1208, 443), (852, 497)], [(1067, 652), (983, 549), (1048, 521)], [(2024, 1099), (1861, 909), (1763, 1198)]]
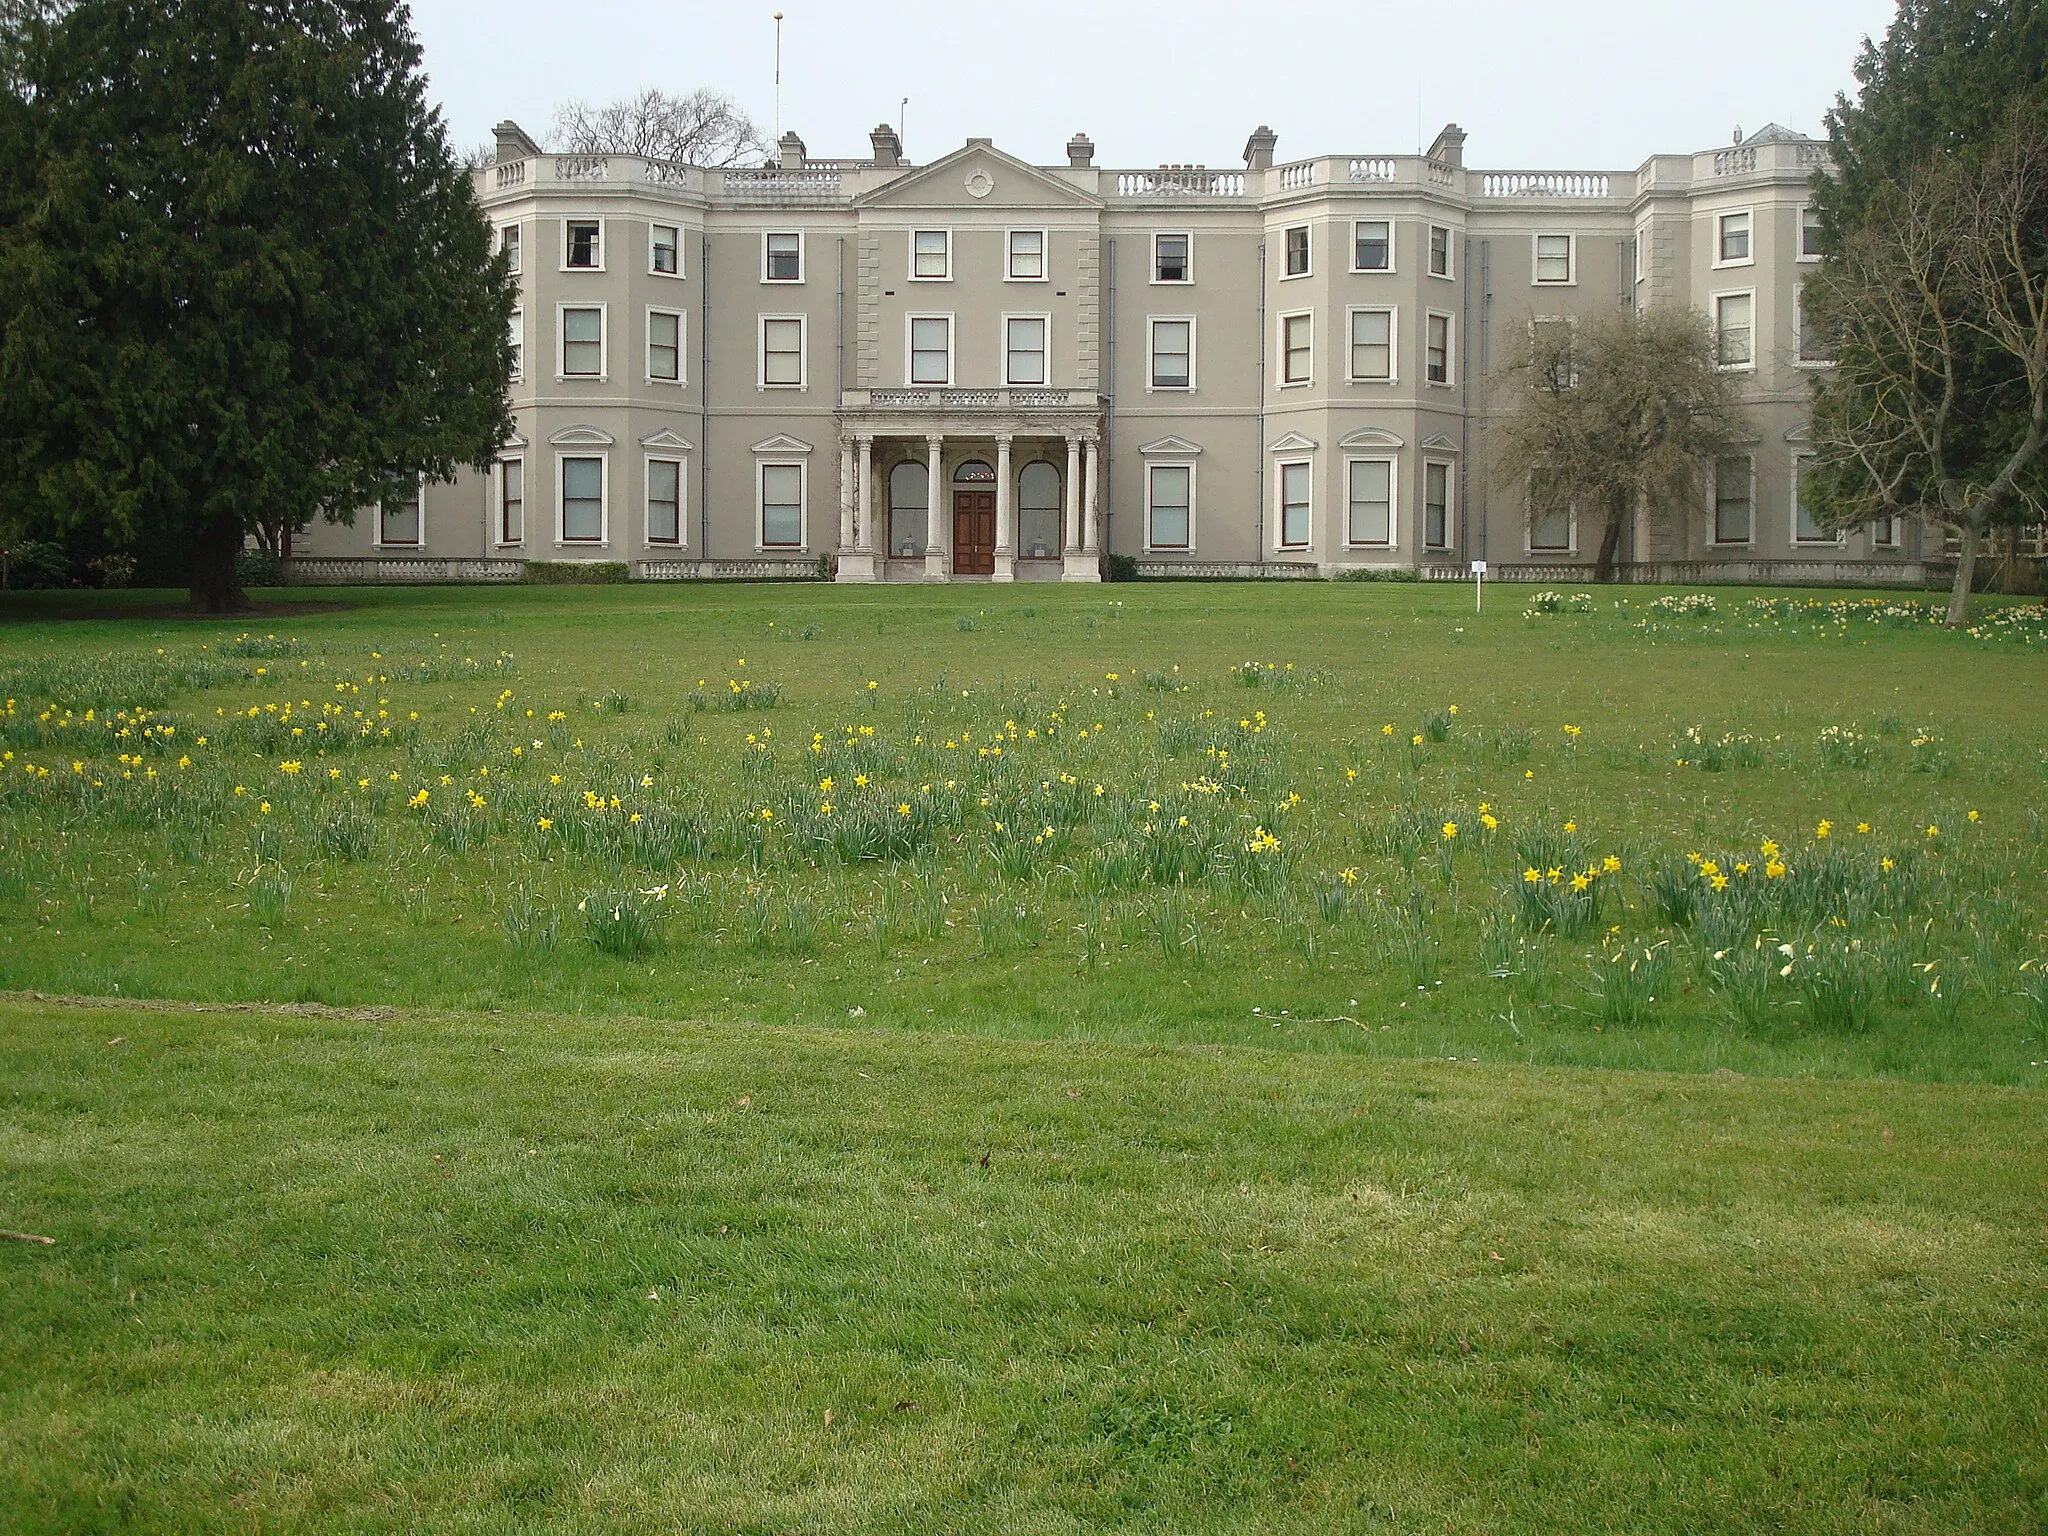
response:
[(0, 1528), (2032, 1532), (2040, 1094), (0, 1001)]

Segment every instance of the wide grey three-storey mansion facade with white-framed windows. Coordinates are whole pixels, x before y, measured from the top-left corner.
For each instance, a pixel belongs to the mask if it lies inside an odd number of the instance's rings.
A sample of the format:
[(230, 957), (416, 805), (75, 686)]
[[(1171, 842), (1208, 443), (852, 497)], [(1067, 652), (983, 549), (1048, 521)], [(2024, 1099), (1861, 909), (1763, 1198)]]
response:
[[(1530, 326), (1694, 305), (1753, 440), (1638, 516), (1647, 580), (1919, 582), (1921, 530), (1800, 498), (1827, 145), (1780, 127), (1634, 172), (1421, 156), (1108, 170), (969, 139), (911, 166), (553, 156), (514, 123), (477, 197), (518, 272), (516, 434), (487, 473), (299, 535), (291, 578), (840, 582), (1575, 580), (1599, 530), (1530, 522), (1489, 463)], [(1929, 543), (1927, 555), (1937, 555)]]

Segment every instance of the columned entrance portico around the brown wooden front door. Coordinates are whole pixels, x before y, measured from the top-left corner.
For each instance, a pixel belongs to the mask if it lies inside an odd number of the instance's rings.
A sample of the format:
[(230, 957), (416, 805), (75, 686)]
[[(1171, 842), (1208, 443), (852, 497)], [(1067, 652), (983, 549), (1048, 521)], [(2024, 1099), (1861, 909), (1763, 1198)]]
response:
[(1100, 397), (864, 389), (840, 410), (840, 582), (1098, 582)]

